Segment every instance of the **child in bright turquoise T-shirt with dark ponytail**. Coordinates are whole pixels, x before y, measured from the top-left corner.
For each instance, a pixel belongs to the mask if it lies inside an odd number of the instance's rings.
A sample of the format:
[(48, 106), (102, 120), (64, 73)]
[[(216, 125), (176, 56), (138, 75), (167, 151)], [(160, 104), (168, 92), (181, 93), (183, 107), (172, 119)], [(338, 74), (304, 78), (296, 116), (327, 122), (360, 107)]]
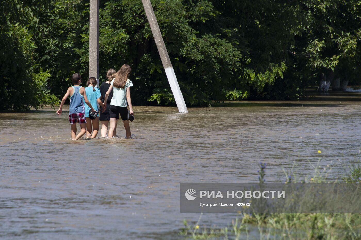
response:
[[(89, 77), (87, 81), (87, 87), (85, 92), (91, 106), (96, 112), (98, 112), (98, 103), (104, 107), (104, 104), (100, 101), (100, 90), (96, 87), (97, 81), (95, 77)], [(95, 138), (99, 131), (99, 117), (90, 119), (89, 117), (90, 107), (85, 106), (85, 119), (87, 120), (87, 137)], [(91, 133), (93, 127), (93, 133)]]

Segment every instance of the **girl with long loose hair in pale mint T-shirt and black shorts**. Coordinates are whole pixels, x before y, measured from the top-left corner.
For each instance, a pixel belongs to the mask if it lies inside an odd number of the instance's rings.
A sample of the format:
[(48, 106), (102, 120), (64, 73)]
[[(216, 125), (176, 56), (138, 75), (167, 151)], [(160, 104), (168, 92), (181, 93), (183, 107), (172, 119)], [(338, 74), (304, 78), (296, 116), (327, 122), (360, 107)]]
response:
[(116, 127), (116, 120), (119, 119), (119, 114), (123, 120), (127, 138), (130, 138), (131, 136), (127, 108), (127, 106), (129, 105), (130, 115), (134, 115), (130, 99), (130, 87), (133, 86), (132, 81), (129, 80), (130, 70), (131, 69), (129, 65), (124, 64), (118, 72), (112, 75), (114, 79), (110, 83), (110, 87), (105, 94), (104, 101), (106, 102), (108, 100), (110, 92), (114, 90), (109, 108), (109, 137), (113, 137), (114, 129)]

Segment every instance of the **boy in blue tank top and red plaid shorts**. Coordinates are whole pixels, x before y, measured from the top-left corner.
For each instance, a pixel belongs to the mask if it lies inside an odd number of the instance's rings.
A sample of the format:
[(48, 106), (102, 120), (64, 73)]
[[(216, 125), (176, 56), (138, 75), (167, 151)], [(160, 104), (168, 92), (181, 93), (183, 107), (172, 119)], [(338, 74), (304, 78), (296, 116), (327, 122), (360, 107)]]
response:
[[(71, 81), (74, 86), (71, 86), (66, 91), (63, 99), (61, 99), (61, 104), (59, 110), (56, 113), (60, 116), (62, 113), (62, 108), (65, 103), (66, 98), (70, 95), (70, 106), (69, 106), (69, 121), (71, 124), (71, 138), (73, 140), (78, 140), (86, 132), (86, 120), (85, 120), (85, 111), (84, 111), (84, 102), (90, 107), (90, 110), (93, 112), (94, 108), (91, 106), (88, 101), (87, 95), (85, 94), (85, 88), (80, 86), (82, 82), (82, 76), (80, 74), (73, 74), (71, 76)], [(83, 101), (84, 100), (84, 101)], [(80, 124), (80, 133), (77, 133), (77, 122)]]

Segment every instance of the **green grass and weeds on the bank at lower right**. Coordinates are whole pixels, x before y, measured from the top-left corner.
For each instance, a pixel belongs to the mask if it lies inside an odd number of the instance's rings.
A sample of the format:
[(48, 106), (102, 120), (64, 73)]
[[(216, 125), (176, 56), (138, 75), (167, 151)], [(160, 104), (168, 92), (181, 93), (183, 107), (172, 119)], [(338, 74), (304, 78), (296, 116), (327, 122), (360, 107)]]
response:
[[(328, 171), (313, 166), (315, 171), (311, 178), (297, 178), (292, 168), (284, 173), (285, 182), (361, 182), (361, 151), (355, 156), (355, 161), (344, 169), (345, 175), (339, 181), (327, 179)], [(264, 181), (266, 165), (260, 164), (259, 182)], [(360, 200), (361, 201), (361, 200)], [(309, 239), (309, 240), (348, 240), (361, 239), (360, 213), (272, 213), (246, 214), (239, 217), (228, 227), (216, 228), (200, 226), (200, 214), (196, 225), (190, 225), (184, 220), (184, 228), (180, 234), (189, 239)], [(255, 230), (257, 232), (255, 232)]]

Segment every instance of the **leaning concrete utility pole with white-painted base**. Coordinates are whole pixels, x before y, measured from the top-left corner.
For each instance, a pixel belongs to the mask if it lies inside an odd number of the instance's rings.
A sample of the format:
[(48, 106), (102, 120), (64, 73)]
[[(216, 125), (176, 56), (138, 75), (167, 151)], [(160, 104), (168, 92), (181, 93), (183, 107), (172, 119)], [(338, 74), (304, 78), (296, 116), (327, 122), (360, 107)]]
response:
[(154, 40), (156, 41), (157, 49), (163, 63), (165, 74), (167, 75), (169, 85), (175, 99), (175, 103), (177, 103), (179, 112), (187, 113), (187, 106), (184, 102), (181, 89), (179, 88), (177, 77), (175, 76), (172, 64), (170, 62), (167, 49), (165, 48), (164, 40), (158, 26), (156, 15), (153, 11), (152, 3), (150, 0), (142, 0), (142, 3), (144, 6), (145, 14), (147, 14), (149, 26), (151, 26)]

